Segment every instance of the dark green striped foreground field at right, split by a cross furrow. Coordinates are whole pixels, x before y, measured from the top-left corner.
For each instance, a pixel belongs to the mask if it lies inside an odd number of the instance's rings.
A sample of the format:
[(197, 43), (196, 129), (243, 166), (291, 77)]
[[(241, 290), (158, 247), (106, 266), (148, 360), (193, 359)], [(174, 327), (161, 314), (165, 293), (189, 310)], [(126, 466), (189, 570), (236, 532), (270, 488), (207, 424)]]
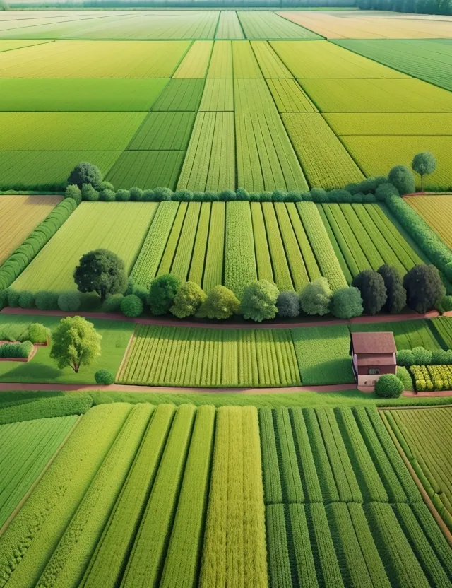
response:
[(374, 408), (259, 421), (271, 587), (448, 585), (450, 548)]

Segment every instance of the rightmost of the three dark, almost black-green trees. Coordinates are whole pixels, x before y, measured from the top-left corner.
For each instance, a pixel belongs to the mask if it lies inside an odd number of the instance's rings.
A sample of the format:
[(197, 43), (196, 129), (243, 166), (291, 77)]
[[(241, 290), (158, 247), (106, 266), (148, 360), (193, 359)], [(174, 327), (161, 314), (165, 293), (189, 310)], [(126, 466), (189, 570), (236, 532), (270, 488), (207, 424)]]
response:
[(439, 271), (430, 265), (410, 269), (403, 278), (403, 286), (407, 290), (408, 306), (420, 314), (432, 310), (446, 293)]

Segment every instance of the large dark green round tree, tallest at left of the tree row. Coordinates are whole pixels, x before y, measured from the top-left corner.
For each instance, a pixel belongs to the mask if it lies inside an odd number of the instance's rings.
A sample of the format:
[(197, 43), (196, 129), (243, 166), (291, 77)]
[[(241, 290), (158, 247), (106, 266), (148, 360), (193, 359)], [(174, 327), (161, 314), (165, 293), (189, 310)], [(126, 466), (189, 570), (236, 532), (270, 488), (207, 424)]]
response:
[(109, 294), (124, 292), (127, 286), (124, 261), (108, 249), (85, 253), (73, 272), (73, 278), (78, 290), (97, 293), (101, 302)]

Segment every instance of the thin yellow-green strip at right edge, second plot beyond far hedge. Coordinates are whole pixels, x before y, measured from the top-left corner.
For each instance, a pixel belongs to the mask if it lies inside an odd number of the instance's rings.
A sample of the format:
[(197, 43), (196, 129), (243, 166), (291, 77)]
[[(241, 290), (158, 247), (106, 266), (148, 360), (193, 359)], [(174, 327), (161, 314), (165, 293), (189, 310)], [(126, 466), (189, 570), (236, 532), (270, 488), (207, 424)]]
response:
[(323, 118), (336, 135), (452, 135), (451, 112), (335, 112)]

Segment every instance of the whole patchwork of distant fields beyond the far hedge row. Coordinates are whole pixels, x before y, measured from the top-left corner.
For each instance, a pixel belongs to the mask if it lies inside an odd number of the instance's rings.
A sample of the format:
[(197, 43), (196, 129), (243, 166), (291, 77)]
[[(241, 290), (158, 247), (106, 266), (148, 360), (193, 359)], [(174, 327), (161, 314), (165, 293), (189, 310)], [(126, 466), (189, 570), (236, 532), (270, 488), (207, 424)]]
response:
[[(117, 189), (333, 189), (425, 150), (438, 160), (427, 189), (448, 189), (452, 45), (429, 40), (433, 22), (355, 11), (0, 16), (0, 189), (61, 189), (78, 160)], [(364, 37), (378, 23), (399, 39), (338, 45), (316, 23)], [(418, 29), (426, 40), (403, 39)], [(192, 116), (150, 116), (160, 112)], [(375, 131), (376, 113), (403, 116)]]

